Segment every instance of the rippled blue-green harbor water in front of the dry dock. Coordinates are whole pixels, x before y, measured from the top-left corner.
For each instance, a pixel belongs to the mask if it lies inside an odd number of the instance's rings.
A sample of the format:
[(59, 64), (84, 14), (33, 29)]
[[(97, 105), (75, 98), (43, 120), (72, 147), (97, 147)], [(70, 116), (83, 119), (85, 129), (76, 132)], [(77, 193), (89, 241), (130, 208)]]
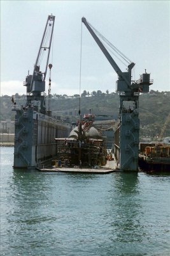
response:
[(1, 255), (170, 255), (170, 175), (13, 170), (1, 147)]

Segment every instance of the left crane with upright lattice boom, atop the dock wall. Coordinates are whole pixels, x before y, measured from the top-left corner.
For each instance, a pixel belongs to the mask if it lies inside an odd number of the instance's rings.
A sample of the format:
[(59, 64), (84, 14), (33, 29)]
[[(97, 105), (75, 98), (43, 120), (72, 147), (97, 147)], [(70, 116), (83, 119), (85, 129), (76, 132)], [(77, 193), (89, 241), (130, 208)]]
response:
[[(48, 15), (46, 21), (45, 30), (41, 40), (41, 44), (38, 51), (38, 56), (34, 64), (32, 75), (28, 74), (25, 79), (24, 86), (27, 86), (27, 105), (32, 101), (40, 102), (41, 113), (45, 113), (45, 78), (47, 67), (52, 68), (52, 64), (48, 65), (50, 56), (50, 48), (52, 44), (53, 26), (55, 22), (55, 16)], [(49, 83), (50, 84), (50, 83)], [(36, 106), (35, 106), (36, 108)]]

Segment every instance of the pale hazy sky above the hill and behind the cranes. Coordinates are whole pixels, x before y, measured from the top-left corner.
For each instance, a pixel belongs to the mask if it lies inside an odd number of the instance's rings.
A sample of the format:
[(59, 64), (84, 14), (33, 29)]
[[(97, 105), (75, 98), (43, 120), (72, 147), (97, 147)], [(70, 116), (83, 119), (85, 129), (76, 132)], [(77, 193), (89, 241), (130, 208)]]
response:
[[(133, 79), (146, 69), (153, 79), (150, 90), (170, 91), (170, 1), (1, 0), (1, 95), (26, 93), (23, 81), (28, 70), (32, 74), (51, 13), (52, 94), (116, 91), (117, 74), (81, 17), (136, 63)], [(126, 71), (125, 65), (117, 64)], [(46, 80), (48, 92), (48, 74)]]

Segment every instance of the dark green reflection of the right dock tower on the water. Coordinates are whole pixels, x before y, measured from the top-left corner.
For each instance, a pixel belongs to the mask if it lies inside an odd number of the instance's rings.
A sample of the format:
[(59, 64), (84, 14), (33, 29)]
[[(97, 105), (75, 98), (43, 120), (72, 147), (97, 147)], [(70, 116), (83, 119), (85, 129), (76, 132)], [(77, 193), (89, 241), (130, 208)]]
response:
[[(128, 248), (129, 250), (131, 248), (131, 255), (136, 253), (133, 244), (143, 243), (145, 232), (140, 220), (141, 214), (138, 173), (115, 173), (114, 190), (107, 217), (110, 218), (112, 230), (110, 240), (117, 245), (124, 244), (120, 246), (121, 249), (119, 248), (122, 255), (128, 251)], [(145, 255), (142, 246), (140, 250), (141, 255)]]

